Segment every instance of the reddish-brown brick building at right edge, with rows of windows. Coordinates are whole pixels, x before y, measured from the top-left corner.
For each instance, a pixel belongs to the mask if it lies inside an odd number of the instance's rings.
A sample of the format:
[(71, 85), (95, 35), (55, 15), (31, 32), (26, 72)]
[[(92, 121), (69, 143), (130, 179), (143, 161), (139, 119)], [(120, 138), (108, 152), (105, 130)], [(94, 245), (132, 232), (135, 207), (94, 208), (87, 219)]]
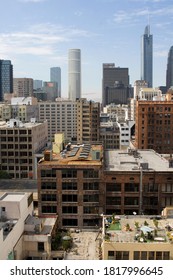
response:
[(136, 103), (135, 147), (153, 149), (160, 154), (172, 154), (172, 118), (171, 92), (167, 93), (165, 100), (138, 100)]

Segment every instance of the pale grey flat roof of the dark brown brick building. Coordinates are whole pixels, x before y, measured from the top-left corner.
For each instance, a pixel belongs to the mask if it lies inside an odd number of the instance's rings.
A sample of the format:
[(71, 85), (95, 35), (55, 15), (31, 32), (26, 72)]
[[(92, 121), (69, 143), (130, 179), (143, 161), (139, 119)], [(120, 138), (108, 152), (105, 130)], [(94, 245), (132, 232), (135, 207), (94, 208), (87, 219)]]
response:
[(105, 170), (107, 171), (137, 171), (142, 165), (148, 165), (146, 169), (148, 171), (173, 171), (173, 167), (169, 167), (169, 161), (154, 150), (105, 151)]

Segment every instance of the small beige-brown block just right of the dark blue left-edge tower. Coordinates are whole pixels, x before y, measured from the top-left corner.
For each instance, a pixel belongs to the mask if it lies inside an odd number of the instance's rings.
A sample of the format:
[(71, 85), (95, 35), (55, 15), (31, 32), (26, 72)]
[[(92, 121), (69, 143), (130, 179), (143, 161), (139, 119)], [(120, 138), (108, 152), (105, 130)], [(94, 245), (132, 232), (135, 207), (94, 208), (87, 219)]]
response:
[(29, 97), (33, 95), (33, 79), (14, 78), (13, 91), (17, 97)]

